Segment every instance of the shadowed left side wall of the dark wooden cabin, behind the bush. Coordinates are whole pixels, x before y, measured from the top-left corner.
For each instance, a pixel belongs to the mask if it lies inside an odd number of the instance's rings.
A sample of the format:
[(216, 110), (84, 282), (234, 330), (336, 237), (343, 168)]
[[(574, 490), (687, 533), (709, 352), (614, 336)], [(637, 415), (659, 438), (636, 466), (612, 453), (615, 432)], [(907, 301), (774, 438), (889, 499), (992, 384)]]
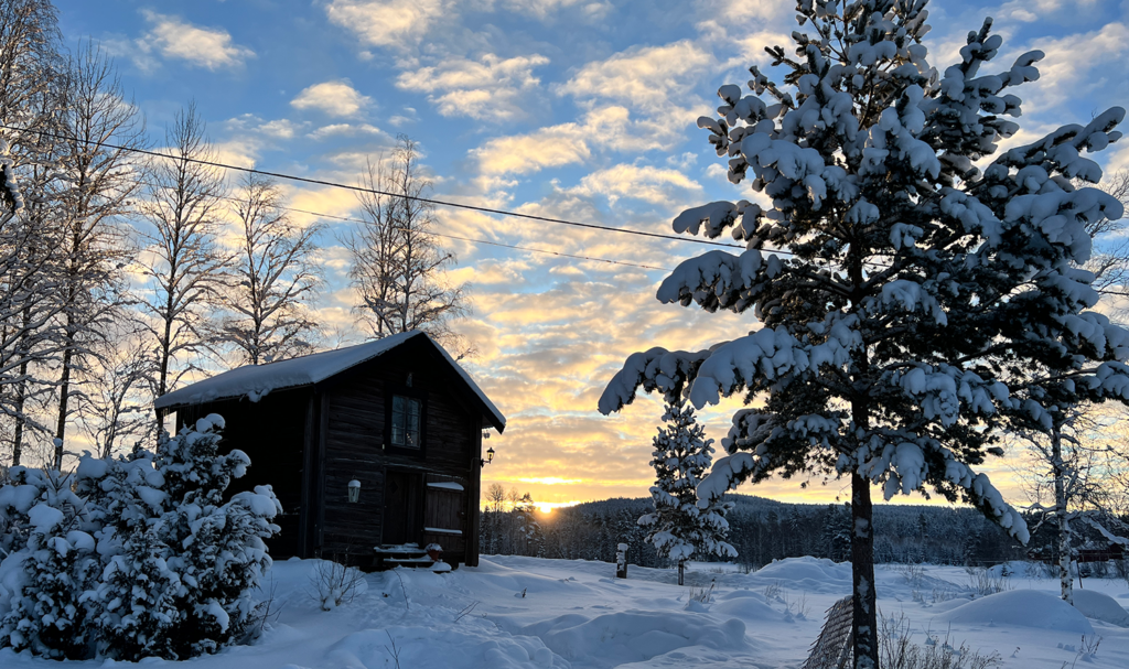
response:
[(226, 426), (220, 440), (221, 452), (239, 449), (251, 458), (247, 475), (236, 478), (228, 496), (270, 485), (282, 504), (282, 516), (275, 517), (279, 536), (266, 542), (275, 560), (308, 556), (301, 549), (303, 437), (310, 390), (294, 389), (268, 394), (259, 402), (228, 399), (177, 407), (177, 429), (192, 424), (208, 414), (224, 416)]

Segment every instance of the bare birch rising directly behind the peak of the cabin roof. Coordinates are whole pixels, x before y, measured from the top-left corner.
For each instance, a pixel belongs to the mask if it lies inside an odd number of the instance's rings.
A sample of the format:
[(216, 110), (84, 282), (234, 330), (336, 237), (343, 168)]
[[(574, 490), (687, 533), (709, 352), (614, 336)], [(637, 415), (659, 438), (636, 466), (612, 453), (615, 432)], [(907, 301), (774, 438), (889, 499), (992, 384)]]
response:
[(431, 182), (419, 164), (419, 147), (401, 135), (391, 156), (369, 162), (358, 194), (364, 223), (342, 243), (352, 255), (349, 278), (358, 313), (377, 337), (421, 329), (449, 340), (450, 320), (466, 313), (463, 287), (443, 271), (455, 263), (435, 236), (435, 205), (421, 199)]

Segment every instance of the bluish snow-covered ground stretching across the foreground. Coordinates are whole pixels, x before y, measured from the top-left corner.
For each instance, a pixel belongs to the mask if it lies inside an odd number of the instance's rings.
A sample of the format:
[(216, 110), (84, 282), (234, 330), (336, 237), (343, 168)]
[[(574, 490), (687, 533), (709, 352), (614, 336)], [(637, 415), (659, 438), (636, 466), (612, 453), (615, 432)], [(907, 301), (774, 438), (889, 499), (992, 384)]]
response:
[[(483, 557), (476, 569), (436, 574), (397, 570), (370, 574), (352, 602), (323, 611), (310, 583), (312, 561), (274, 565), (278, 619), (250, 646), (187, 662), (200, 669), (507, 669), (544, 667), (798, 667), (820, 632), (823, 613), (850, 591), (850, 565), (811, 557), (743, 574), (729, 565), (693, 564), (688, 587), (673, 570), (632, 565), (628, 580), (602, 562)], [(960, 567), (905, 573), (878, 566), (878, 602), (904, 614), (917, 643), (946, 635), (1001, 666), (1024, 669), (1129, 667), (1129, 588), (1120, 580), (1083, 582), (1086, 618), (1056, 599), (1057, 581), (1022, 571), (1010, 590), (973, 597)], [(690, 601), (714, 584), (712, 601)], [(765, 597), (768, 591), (769, 597)], [(1099, 596), (1104, 593), (1108, 598)], [(405, 600), (406, 595), (406, 600)], [(1117, 606), (1111, 607), (1111, 600)], [(1103, 608), (1104, 607), (1104, 608)], [(1120, 623), (1120, 625), (1114, 624)], [(1101, 645), (1079, 659), (1082, 636)], [(160, 667), (163, 660), (142, 664)], [(68, 667), (121, 666), (70, 662)], [(5, 669), (60, 663), (0, 651)]]

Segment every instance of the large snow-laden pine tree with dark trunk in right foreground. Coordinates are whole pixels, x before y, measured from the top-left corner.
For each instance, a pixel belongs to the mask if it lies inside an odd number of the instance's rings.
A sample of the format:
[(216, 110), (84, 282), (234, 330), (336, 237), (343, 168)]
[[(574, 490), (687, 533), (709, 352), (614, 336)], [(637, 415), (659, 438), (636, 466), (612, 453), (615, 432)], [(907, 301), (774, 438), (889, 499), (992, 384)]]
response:
[(940, 73), (921, 44), (925, 6), (802, 0), (796, 58), (768, 50), (781, 85), (752, 68), (754, 95), (721, 87), (720, 117), (699, 125), (729, 179), (751, 173), (770, 203), (679, 215), (676, 231), (728, 229), (747, 249), (682, 263), (658, 299), (752, 308), (762, 327), (699, 352), (636, 353), (599, 400), (619, 411), (642, 387), (698, 407), (735, 393), (756, 403), (734, 416), (701, 503), (773, 473), (850, 478), (858, 668), (878, 663), (870, 486), (936, 491), (1025, 542), (1023, 519), (973, 469), (1003, 452), (1000, 429), (1050, 429), (1048, 379), (1076, 399), (1129, 395), (1129, 335), (1085, 311), (1093, 275), (1074, 266), (1091, 253), (1086, 223), (1121, 205), (1071, 183), (1099, 181), (1080, 153), (1120, 138), (1123, 109), (991, 159), (1018, 130), (1007, 89), (1035, 79), (1042, 54), (982, 74), (1003, 43), (987, 20)]

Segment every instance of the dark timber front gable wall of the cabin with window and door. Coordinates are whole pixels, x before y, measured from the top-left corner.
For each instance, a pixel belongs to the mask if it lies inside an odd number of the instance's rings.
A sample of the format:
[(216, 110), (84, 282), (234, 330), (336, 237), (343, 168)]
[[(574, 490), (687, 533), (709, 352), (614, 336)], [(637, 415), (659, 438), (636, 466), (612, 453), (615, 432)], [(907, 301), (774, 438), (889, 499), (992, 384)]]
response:
[[(382, 448), (387, 394), (403, 387), (409, 373), (412, 375), (412, 391), (426, 393), (422, 457)], [(421, 491), (427, 490), (427, 482), (457, 482), (467, 496), (474, 495), (473, 502), (467, 504), (469, 510), (476, 510), (479, 473), (472, 452), (476, 450), (481, 419), (466, 398), (457, 396), (461, 384), (453, 375), (445, 362), (435, 358), (428, 344), (410, 342), (352, 373), (342, 375), (324, 390), (322, 555), (349, 552), (350, 560), (364, 564), (375, 546), (391, 543), (384, 536), (385, 486), (390, 472), (396, 475), (399, 484), (405, 476), (417, 477)], [(352, 478), (361, 484), (357, 503), (348, 501), (348, 484)], [(422, 522), (422, 508), (418, 512)], [(473, 514), (465, 516), (463, 546), (445, 555), (445, 560), (466, 562), (466, 548), (476, 548), (476, 535), (470, 536), (472, 530), (476, 531), (475, 520)], [(421, 546), (431, 540), (436, 540), (435, 537), (422, 534), (406, 537), (406, 542)], [(473, 560), (476, 557), (475, 552)]]

